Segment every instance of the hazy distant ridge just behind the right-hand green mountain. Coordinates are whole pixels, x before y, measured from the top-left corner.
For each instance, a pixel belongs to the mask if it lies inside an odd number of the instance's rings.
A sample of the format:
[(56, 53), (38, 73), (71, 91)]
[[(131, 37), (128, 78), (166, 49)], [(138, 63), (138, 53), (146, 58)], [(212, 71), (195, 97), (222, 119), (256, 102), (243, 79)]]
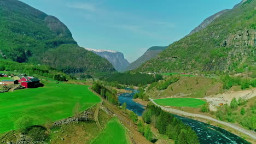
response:
[(139, 57), (136, 61), (132, 62), (125, 71), (133, 70), (141, 66), (144, 62), (149, 61), (150, 59), (156, 57), (158, 53), (165, 50), (168, 46), (153, 46), (150, 47), (141, 57)]

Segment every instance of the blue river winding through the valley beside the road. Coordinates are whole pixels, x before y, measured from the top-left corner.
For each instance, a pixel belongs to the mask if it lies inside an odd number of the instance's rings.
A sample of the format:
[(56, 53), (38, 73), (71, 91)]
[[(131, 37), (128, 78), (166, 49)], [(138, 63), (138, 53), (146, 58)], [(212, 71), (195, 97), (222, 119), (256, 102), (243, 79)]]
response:
[[(126, 88), (126, 90), (132, 91), (132, 93), (120, 94), (118, 99), (123, 105), (126, 103), (126, 109), (132, 110), (138, 116), (142, 116), (143, 111), (146, 107), (141, 104), (136, 103), (132, 100), (133, 95), (138, 92), (134, 89)], [(182, 120), (183, 123), (189, 125), (193, 130), (195, 130), (197, 136), (199, 136), (199, 141), (201, 144), (243, 144), (249, 143), (246, 140), (238, 137), (229, 131), (226, 131), (219, 127), (214, 127), (213, 125), (195, 121), (194, 119), (185, 118), (181, 116), (174, 115), (175, 117)]]

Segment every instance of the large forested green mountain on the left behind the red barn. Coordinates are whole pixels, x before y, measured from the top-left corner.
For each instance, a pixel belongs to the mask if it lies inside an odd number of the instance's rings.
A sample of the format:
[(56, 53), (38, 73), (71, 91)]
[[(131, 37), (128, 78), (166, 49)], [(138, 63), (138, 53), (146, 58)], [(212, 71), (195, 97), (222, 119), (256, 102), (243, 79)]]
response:
[(54, 16), (17, 0), (0, 0), (0, 14), (0, 58), (48, 64), (65, 73), (115, 71), (106, 59), (79, 47), (67, 26)]

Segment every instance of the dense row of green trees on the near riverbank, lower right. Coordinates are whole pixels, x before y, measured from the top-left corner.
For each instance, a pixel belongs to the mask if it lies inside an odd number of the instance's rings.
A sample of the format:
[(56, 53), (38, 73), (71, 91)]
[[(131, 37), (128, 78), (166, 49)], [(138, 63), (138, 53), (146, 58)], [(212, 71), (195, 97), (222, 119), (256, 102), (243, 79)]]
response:
[[(142, 118), (145, 123), (152, 124), (160, 134), (167, 135), (169, 139), (174, 140), (177, 144), (199, 143), (199, 139), (191, 127), (158, 106), (148, 104)], [(138, 129), (140, 130), (141, 127), (139, 125), (141, 124), (138, 124)], [(148, 135), (151, 134), (149, 133)]]

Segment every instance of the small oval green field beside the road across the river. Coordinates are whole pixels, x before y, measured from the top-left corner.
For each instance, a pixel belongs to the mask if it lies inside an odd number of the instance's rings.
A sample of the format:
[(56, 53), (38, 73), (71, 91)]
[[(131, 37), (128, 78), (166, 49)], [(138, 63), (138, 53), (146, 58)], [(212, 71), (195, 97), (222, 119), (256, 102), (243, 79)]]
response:
[(186, 106), (186, 107), (200, 107), (200, 105), (206, 102), (201, 99), (194, 98), (167, 98), (167, 99), (155, 99), (156, 104), (161, 106)]

